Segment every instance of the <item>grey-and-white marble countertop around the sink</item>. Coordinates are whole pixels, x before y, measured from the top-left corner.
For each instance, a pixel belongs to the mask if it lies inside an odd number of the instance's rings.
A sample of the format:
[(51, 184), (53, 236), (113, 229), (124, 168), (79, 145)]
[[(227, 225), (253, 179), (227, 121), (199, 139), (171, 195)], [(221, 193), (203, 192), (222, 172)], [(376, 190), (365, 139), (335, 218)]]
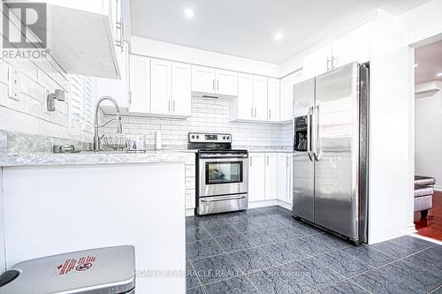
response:
[(154, 150), (146, 153), (81, 152), (72, 154), (28, 154), (0, 156), (1, 167), (90, 164), (194, 163), (194, 150)]

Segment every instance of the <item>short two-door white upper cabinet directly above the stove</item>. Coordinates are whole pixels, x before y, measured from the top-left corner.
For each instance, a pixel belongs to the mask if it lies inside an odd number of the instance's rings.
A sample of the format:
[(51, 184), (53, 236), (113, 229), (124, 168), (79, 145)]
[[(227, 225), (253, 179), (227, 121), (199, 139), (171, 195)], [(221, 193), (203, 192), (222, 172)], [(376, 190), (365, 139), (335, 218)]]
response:
[(238, 95), (238, 72), (192, 65), (192, 92), (197, 95)]

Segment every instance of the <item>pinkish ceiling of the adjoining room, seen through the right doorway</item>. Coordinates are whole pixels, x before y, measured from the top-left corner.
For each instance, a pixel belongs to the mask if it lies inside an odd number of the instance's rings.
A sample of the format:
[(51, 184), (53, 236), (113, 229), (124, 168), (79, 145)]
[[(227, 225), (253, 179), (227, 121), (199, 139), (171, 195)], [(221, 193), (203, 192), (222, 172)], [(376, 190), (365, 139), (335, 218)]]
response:
[(437, 41), (415, 49), (415, 84), (439, 80), (438, 73), (442, 72), (442, 41)]

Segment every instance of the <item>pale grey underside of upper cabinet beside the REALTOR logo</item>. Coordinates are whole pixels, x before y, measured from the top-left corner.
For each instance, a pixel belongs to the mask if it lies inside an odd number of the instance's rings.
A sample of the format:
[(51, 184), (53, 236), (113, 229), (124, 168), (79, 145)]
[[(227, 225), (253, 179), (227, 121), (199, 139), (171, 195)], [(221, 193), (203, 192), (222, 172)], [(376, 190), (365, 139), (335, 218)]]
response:
[[(24, 1), (5, 3), (24, 3)], [(120, 79), (109, 16), (54, 4), (46, 4), (46, 9), (46, 27), (37, 27), (37, 29), (47, 32), (45, 49), (51, 57), (48, 59), (57, 63), (57, 67), (65, 73)], [(11, 21), (18, 26), (19, 17), (14, 21), (11, 14), (17, 17), (19, 11), (11, 9), (9, 14)], [(27, 30), (27, 38), (29, 34), (33, 32)], [(35, 49), (43, 48), (36, 46)]]

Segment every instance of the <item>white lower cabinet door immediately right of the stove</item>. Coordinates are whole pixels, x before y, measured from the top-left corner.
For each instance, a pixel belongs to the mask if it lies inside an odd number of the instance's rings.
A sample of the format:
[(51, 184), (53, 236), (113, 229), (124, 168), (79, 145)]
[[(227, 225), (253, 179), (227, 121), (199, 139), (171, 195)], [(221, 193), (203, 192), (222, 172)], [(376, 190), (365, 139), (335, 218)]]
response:
[(248, 200), (265, 200), (265, 154), (249, 154), (248, 165)]

